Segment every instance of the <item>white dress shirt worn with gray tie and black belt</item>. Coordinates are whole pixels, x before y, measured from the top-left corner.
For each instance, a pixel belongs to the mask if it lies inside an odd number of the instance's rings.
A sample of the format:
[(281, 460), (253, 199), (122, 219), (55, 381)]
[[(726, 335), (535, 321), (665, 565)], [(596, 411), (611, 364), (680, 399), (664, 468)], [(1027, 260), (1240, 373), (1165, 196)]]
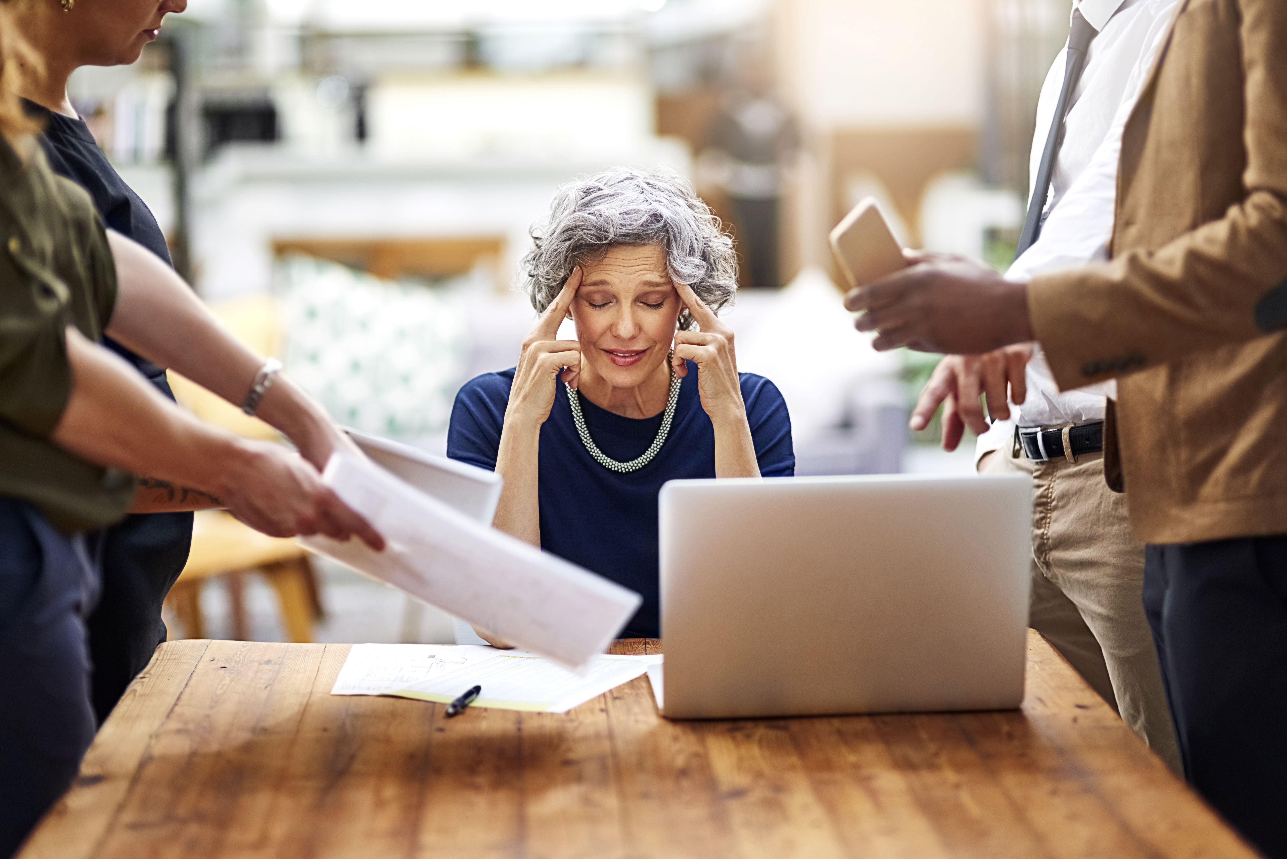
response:
[[(1006, 278), (1073, 269), (1108, 257), (1117, 199), (1117, 162), (1122, 131), (1171, 26), (1179, 0), (1080, 0), (1086, 23), (1098, 31), (1072, 94), (1064, 138), (1055, 157), (1041, 234), (1014, 261)], [(1059, 51), (1041, 87), (1032, 139), (1031, 175), (1036, 181), (1046, 135), (1063, 87), (1067, 50)], [(1031, 190), (1030, 190), (1031, 193)], [(1018, 409), (1024, 427), (1060, 427), (1103, 420), (1106, 397), (1116, 384), (1093, 384), (1060, 393), (1045, 355), (1037, 347), (1027, 369), (1028, 396)], [(1012, 410), (1013, 414), (1013, 410)], [(999, 422), (978, 440), (982, 457), (1010, 444), (1014, 422)]]

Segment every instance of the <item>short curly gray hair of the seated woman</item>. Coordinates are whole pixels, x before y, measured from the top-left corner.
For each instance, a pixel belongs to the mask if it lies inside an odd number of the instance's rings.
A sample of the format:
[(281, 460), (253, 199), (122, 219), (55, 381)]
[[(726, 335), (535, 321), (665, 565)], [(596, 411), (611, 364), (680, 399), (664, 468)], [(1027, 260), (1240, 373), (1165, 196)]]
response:
[[(561, 186), (550, 217), (532, 228), (533, 248), (523, 257), (524, 288), (544, 312), (573, 267), (595, 262), (622, 244), (660, 244), (671, 279), (686, 283), (713, 312), (737, 292), (732, 238), (687, 179), (671, 170), (614, 167)], [(680, 328), (692, 318), (685, 310)]]

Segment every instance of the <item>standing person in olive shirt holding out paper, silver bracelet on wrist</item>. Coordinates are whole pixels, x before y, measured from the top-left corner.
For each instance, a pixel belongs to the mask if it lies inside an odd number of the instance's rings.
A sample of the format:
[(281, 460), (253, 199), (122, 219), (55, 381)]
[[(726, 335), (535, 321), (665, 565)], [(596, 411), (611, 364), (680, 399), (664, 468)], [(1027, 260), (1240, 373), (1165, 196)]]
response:
[[(322, 484), (318, 467), (349, 442), (320, 406), (50, 171), (12, 91), (14, 44), (0, 6), (0, 859), (94, 737), (86, 532), (154, 504), (131, 475), (218, 498), (266, 534), (384, 548)], [(104, 336), (259, 414), (299, 453), (197, 420), (95, 343)]]

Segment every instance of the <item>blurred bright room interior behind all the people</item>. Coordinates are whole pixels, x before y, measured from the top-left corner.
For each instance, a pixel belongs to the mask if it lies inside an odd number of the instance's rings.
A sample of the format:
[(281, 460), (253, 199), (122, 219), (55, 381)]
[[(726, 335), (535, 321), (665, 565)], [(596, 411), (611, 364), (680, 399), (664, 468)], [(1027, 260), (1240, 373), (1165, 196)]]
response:
[[(797, 473), (969, 471), (973, 445), (909, 435), (934, 359), (853, 330), (826, 234), (874, 195), (905, 244), (1004, 269), (1069, 8), (189, 0), (139, 63), (81, 69), (71, 95), (180, 273), (342, 423), (441, 453), (456, 391), (514, 365), (533, 323), (516, 266), (555, 188), (665, 165), (736, 237), (739, 364), (782, 390)], [(439, 612), (216, 518), (170, 620), (176, 637), (452, 640)]]

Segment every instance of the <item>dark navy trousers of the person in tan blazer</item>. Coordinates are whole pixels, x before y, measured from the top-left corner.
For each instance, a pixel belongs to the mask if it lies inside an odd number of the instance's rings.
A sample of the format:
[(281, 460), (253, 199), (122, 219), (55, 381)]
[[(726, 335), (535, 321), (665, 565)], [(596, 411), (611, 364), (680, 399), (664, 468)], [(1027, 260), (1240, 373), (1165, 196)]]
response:
[(1144, 611), (1189, 783), (1287, 859), (1287, 536), (1148, 547)]

